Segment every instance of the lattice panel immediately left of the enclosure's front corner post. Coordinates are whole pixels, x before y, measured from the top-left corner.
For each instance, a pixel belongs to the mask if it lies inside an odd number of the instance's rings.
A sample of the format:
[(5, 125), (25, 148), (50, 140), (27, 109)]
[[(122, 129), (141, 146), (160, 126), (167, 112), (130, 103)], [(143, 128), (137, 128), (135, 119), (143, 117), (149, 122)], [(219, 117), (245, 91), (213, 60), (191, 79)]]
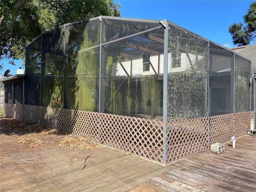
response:
[(100, 114), (99, 123), (99, 143), (163, 163), (162, 121)]

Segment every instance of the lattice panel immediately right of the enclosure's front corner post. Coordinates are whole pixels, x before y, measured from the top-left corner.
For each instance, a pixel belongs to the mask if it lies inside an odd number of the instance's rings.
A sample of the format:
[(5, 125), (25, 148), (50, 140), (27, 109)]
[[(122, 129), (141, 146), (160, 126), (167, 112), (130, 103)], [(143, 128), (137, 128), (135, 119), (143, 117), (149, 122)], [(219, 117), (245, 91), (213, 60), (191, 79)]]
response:
[(171, 163), (209, 148), (208, 118), (167, 122), (166, 162)]

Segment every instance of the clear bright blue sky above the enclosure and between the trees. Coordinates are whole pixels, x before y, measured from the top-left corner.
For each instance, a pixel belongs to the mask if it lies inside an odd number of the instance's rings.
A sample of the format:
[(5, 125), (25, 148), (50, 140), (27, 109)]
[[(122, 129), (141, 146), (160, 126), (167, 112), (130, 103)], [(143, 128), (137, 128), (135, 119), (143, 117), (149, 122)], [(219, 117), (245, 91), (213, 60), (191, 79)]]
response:
[[(204, 38), (227, 48), (236, 47), (228, 33), (228, 27), (233, 23), (243, 22), (249, 6), (255, 0), (113, 0), (121, 4), (121, 17), (138, 19), (167, 19)], [(253, 44), (253, 42), (252, 42)], [(10, 74), (16, 70), (22, 61), (16, 61), (11, 66), (2, 60), (2, 74), (9, 69)]]

